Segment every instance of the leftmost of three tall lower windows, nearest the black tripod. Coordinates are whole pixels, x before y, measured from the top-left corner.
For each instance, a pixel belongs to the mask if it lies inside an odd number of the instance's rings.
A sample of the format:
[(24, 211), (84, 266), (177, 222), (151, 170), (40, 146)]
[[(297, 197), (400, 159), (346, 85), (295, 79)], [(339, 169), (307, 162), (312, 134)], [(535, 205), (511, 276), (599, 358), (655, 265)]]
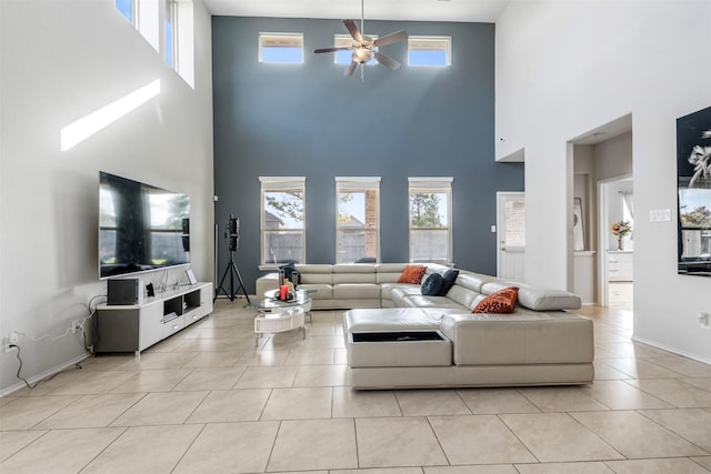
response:
[(260, 177), (261, 264), (306, 262), (306, 178)]

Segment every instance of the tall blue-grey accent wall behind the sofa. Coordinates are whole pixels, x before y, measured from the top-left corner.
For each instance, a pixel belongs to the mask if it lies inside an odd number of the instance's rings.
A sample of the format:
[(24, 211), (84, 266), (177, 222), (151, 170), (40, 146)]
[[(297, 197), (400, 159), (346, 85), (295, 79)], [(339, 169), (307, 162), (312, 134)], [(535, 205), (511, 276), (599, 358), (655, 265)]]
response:
[[(398, 30), (450, 36), (451, 67), (408, 67), (400, 42), (381, 51), (402, 67), (369, 65), (361, 83), (360, 71), (344, 78), (332, 54), (312, 52), (347, 33), (340, 20), (212, 17), (218, 278), (230, 214), (248, 292), (263, 274), (260, 175), (307, 178), (308, 263), (334, 261), (334, 177), (381, 177), (383, 262), (408, 260), (408, 178), (453, 177), (453, 261), (495, 274), (495, 193), (523, 190), (523, 164), (494, 161), (494, 26), (365, 20), (365, 33)], [(302, 32), (304, 63), (260, 63), (260, 32)]]

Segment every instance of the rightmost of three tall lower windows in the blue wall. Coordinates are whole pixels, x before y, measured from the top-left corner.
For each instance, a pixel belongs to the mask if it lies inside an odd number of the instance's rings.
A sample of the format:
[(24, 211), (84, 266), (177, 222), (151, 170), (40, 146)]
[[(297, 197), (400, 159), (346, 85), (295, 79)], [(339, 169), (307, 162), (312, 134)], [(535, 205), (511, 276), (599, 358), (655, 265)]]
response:
[(452, 261), (452, 178), (410, 178), (410, 262)]

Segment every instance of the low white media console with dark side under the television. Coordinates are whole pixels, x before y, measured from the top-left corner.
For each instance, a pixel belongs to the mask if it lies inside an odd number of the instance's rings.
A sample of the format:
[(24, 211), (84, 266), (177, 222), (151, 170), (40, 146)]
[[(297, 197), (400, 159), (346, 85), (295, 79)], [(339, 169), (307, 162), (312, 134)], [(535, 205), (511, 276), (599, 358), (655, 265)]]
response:
[(94, 353), (141, 351), (212, 312), (212, 283), (167, 290), (134, 305), (97, 306)]

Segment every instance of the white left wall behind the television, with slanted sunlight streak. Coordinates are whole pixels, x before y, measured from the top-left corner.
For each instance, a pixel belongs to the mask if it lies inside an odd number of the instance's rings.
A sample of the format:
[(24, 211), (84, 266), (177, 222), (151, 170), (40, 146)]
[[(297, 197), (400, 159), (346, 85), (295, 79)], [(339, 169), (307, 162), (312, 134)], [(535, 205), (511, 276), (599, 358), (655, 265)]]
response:
[[(111, 0), (0, 1), (0, 335), (23, 333), (28, 379), (83, 356), (77, 334), (59, 335), (106, 294), (99, 170), (190, 194), (192, 268), (212, 280), (211, 20), (201, 1), (194, 10), (193, 90)], [(60, 151), (64, 125), (157, 79), (159, 95)], [(0, 357), (1, 393), (19, 380), (14, 353)]]

